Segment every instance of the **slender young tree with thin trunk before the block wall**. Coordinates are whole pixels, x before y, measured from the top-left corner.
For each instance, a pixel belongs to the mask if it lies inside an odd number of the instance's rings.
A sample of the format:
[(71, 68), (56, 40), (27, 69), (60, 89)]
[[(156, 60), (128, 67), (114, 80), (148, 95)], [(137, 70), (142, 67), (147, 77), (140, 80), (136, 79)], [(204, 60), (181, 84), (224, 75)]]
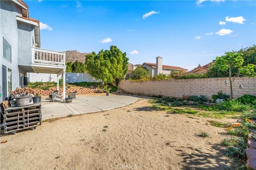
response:
[[(232, 83), (238, 76), (238, 72), (232, 72), (233, 68), (240, 68), (244, 63), (242, 53), (226, 52), (225, 55), (221, 57), (216, 57), (215, 66), (221, 71), (228, 72), (229, 83), (230, 83), (230, 98), (233, 98), (233, 88)], [(232, 78), (233, 76), (233, 78)]]

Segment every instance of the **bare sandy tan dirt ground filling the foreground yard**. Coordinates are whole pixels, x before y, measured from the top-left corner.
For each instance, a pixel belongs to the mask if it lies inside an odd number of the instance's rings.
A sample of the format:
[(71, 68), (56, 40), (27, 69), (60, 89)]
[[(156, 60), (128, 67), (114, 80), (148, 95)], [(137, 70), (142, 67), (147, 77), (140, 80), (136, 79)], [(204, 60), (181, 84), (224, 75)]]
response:
[[(94, 94), (95, 95), (95, 94)], [(168, 114), (145, 98), (126, 107), (42, 122), (34, 131), (4, 135), (1, 170), (221, 170), (225, 129), (204, 117)], [(223, 123), (236, 119), (218, 120)], [(106, 129), (106, 131), (104, 130)], [(200, 137), (205, 131), (209, 137)]]

